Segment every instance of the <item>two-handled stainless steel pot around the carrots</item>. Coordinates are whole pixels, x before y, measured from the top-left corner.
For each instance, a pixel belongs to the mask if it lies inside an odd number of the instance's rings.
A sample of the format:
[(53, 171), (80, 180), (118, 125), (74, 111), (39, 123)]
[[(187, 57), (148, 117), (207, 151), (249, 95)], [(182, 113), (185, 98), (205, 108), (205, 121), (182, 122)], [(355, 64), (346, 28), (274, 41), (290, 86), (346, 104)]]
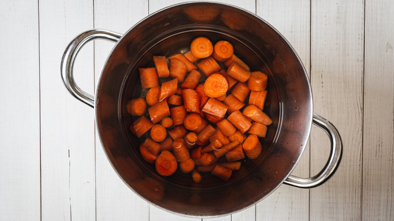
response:
[[(237, 56), (252, 70), (269, 76), (264, 112), (274, 123), (261, 140), (264, 153), (245, 161), (228, 182), (207, 176), (195, 184), (190, 175), (181, 173), (159, 176), (153, 165), (140, 157), (140, 141), (128, 129), (133, 119), (126, 113), (125, 104), (144, 93), (138, 86), (138, 68), (151, 66), (153, 55), (186, 50), (197, 36), (232, 42)], [(116, 44), (93, 97), (75, 84), (73, 64), (79, 49), (96, 38)], [(254, 205), (282, 183), (301, 188), (318, 186), (338, 167), (342, 150), (339, 134), (313, 113), (311, 87), (299, 57), (271, 25), (242, 9), (210, 2), (185, 3), (146, 17), (124, 35), (98, 29), (83, 32), (66, 48), (61, 71), (70, 93), (94, 106), (97, 129), (114, 170), (136, 194), (162, 209), (186, 216), (226, 215)], [(330, 138), (329, 159), (314, 177), (291, 176), (312, 123)]]

